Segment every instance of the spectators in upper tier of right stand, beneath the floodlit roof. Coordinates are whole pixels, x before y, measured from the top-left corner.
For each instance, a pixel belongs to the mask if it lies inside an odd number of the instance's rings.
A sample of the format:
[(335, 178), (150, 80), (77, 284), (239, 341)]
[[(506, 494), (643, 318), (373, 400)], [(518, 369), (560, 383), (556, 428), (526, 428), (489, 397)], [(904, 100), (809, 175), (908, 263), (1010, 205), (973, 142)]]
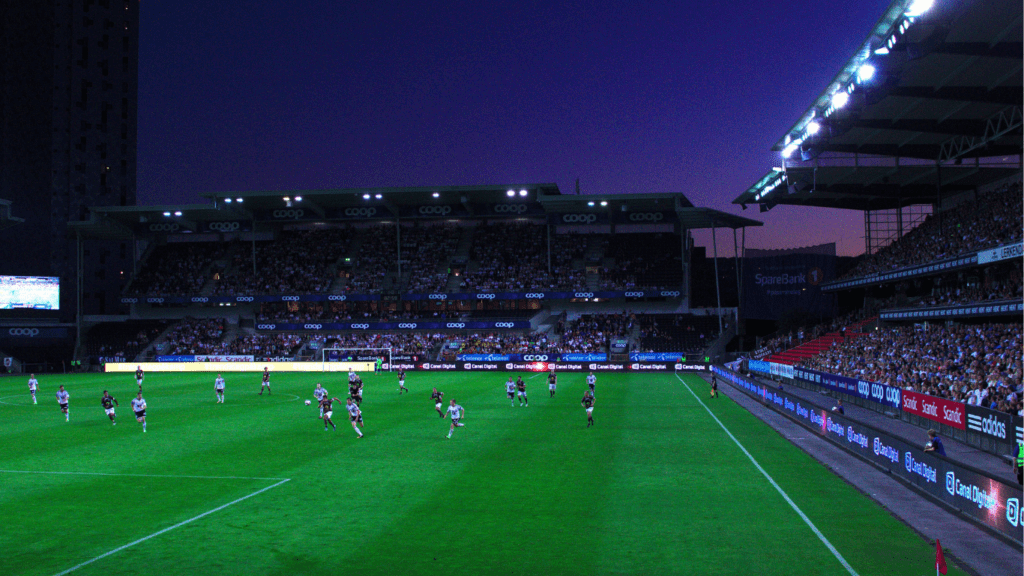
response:
[(979, 194), (977, 200), (931, 214), (903, 238), (865, 256), (845, 278), (884, 273), (1019, 242), (1022, 209), (1020, 182)]

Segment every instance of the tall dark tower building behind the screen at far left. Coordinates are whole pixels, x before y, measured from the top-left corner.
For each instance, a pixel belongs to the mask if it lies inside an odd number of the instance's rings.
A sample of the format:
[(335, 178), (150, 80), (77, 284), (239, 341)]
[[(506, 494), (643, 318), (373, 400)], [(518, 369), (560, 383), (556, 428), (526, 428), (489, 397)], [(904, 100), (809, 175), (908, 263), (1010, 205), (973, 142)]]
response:
[[(59, 276), (76, 311), (69, 220), (135, 204), (138, 0), (0, 2), (0, 199), (25, 223), (0, 231), (0, 274)], [(85, 314), (114, 313), (130, 242), (90, 242)], [(125, 275), (127, 276), (127, 274)]]

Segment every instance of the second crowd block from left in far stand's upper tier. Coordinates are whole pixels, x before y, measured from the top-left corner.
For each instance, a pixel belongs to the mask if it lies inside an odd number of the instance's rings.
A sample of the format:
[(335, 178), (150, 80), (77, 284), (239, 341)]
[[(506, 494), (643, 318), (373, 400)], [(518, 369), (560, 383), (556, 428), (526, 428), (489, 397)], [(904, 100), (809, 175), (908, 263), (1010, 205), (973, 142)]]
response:
[(315, 294), (327, 292), (337, 276), (333, 266), (348, 250), (351, 233), (340, 229), (286, 231), (256, 244), (252, 254), (238, 250), (232, 271), (217, 281), (215, 294)]

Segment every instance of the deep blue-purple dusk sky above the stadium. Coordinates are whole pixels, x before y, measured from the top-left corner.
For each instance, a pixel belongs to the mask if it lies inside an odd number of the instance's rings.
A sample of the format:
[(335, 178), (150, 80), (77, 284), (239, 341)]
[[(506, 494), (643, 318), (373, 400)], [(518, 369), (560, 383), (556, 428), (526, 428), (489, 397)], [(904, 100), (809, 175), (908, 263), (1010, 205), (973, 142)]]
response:
[(139, 204), (579, 177), (863, 251), (860, 212), (730, 202), (888, 1), (427, 4), (141, 2)]

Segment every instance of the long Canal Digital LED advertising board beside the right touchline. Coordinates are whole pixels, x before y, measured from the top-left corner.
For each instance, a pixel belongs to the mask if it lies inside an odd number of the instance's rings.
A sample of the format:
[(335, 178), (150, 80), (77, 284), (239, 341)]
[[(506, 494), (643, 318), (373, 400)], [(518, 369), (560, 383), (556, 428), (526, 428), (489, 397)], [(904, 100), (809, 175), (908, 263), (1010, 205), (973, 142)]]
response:
[(1021, 489), (978, 470), (925, 452), (871, 426), (810, 406), (784, 392), (714, 367), (737, 389), (760, 399), (845, 450), (899, 477), (918, 490), (959, 510), (962, 515), (998, 531), (1016, 542), (1022, 537)]

